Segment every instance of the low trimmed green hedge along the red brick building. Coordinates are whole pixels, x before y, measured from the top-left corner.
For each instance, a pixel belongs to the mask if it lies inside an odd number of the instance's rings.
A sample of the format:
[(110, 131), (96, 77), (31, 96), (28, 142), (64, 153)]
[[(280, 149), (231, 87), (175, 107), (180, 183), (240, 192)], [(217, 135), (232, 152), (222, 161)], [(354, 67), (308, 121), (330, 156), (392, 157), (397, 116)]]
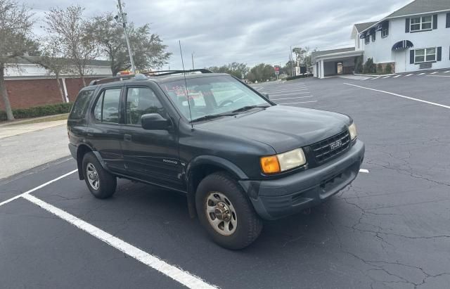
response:
[[(47, 115), (59, 115), (61, 113), (70, 113), (72, 103), (56, 103), (32, 108), (13, 109), (14, 118), (45, 117)], [(0, 121), (7, 120), (6, 113), (0, 110)]]

